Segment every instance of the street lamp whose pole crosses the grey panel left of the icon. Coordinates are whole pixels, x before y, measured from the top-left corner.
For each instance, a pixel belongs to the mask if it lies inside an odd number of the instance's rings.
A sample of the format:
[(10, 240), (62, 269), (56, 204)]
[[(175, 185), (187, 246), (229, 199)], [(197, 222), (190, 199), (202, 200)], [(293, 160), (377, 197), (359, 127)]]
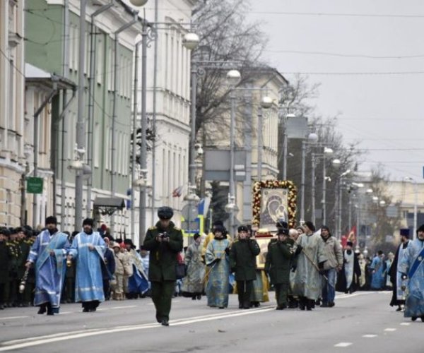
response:
[[(240, 83), (241, 75), (237, 70), (230, 70), (227, 73), (228, 84), (230, 85), (231, 116), (230, 116), (230, 194), (228, 196), (228, 205), (235, 204), (235, 181), (234, 181), (234, 157), (235, 157), (235, 86)], [(232, 201), (230, 203), (230, 200)], [(237, 207), (237, 205), (236, 205)], [(230, 229), (234, 229), (234, 208), (230, 210)]]

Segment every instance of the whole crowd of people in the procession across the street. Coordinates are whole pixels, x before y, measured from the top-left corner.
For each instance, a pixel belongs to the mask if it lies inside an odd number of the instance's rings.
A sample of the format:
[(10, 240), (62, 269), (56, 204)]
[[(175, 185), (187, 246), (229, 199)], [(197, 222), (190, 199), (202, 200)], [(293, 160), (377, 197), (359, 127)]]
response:
[[(207, 305), (218, 309), (228, 307), (234, 293), (239, 308), (250, 309), (269, 301), (272, 288), (277, 310), (311, 311), (335, 306), (336, 291), (391, 289), (391, 306), (424, 321), (424, 225), (413, 241), (401, 229), (395, 254), (385, 258), (378, 251), (367, 258), (351, 241), (342, 248), (329, 227), (315, 229), (312, 222), (296, 229), (278, 222), (264, 251), (251, 227), (241, 225), (230, 237), (218, 220), (211, 233), (195, 234), (183, 249), (182, 230), (172, 217), (172, 208), (159, 208), (139, 251), (131, 239), (113, 239), (107, 227), (95, 232), (90, 218), (73, 234), (59, 232), (52, 216), (39, 234), (28, 226), (0, 229), (0, 309), (33, 303), (38, 313), (54, 315), (61, 303), (76, 301), (83, 312), (93, 312), (105, 300), (151, 297), (156, 320), (167, 326), (177, 293), (192, 300), (206, 294)], [(257, 265), (261, 252), (263, 268)]]

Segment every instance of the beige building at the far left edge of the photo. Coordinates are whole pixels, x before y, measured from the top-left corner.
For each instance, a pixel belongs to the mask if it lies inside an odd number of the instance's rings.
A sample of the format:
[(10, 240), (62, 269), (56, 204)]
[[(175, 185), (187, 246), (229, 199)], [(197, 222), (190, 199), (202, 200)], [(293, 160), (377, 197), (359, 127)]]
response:
[(0, 1), (0, 225), (20, 224), (25, 172), (23, 0)]

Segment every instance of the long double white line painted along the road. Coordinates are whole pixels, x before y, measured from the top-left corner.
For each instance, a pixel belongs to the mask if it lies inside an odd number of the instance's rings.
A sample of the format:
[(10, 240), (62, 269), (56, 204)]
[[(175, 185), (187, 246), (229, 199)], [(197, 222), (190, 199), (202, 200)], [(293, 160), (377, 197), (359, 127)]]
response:
[[(204, 321), (220, 320), (222, 318), (234, 318), (237, 316), (252, 315), (254, 313), (264, 313), (266, 311), (275, 310), (275, 306), (263, 306), (258, 309), (250, 309), (249, 311), (230, 311), (227, 313), (214, 313), (206, 316), (197, 316), (192, 318), (180, 318), (171, 321), (172, 326), (175, 325), (188, 325), (189, 323), (200, 323)], [(148, 328), (160, 328), (162, 325), (159, 323), (144, 323), (141, 325), (128, 325), (128, 326), (115, 326), (112, 328), (96, 328), (92, 330), (78, 330), (66, 333), (57, 333), (54, 335), (45, 335), (39, 337), (29, 337), (22, 340), (12, 340), (2, 342), (0, 344), (0, 352), (21, 349), (25, 347), (33, 347), (37, 345), (45, 345), (47, 343), (60, 342), (64, 340), (73, 340), (76, 338), (89, 337), (95, 335), (105, 335), (109, 333), (119, 333), (130, 330), (146, 330)]]

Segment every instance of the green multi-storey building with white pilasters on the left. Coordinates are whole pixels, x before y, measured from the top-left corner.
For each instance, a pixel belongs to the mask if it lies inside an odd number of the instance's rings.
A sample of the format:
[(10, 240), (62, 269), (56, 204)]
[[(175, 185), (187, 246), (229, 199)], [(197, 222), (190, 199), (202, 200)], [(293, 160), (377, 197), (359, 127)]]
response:
[[(83, 68), (78, 64), (81, 1), (34, 0), (27, 1), (25, 8), (26, 62), (74, 83), (78, 83), (82, 69), (86, 79), (85, 143), (78, 146), (86, 164), (81, 196), (83, 217), (93, 215), (98, 196), (114, 196), (122, 201), (126, 198), (130, 183), (133, 56), (136, 36), (141, 32), (141, 19), (124, 1), (88, 0), (86, 4)], [(57, 136), (54, 148), (47, 143), (46, 149), (40, 150), (46, 160), (40, 169), (52, 172), (53, 185), (47, 187), (35, 215), (30, 212), (29, 217), (30, 220), (35, 217), (33, 223), (37, 224), (43, 221), (42, 215), (47, 210), (58, 216), (62, 230), (81, 227), (74, 223), (76, 175), (68, 169), (75, 159), (77, 140), (78, 102), (72, 98), (70, 90), (53, 98), (52, 128), (40, 131), (40, 141), (48, 141), (50, 133)], [(110, 208), (102, 211), (100, 221), (108, 225), (113, 222), (114, 235), (124, 237), (129, 222), (126, 210), (119, 210), (114, 218), (110, 216)]]

